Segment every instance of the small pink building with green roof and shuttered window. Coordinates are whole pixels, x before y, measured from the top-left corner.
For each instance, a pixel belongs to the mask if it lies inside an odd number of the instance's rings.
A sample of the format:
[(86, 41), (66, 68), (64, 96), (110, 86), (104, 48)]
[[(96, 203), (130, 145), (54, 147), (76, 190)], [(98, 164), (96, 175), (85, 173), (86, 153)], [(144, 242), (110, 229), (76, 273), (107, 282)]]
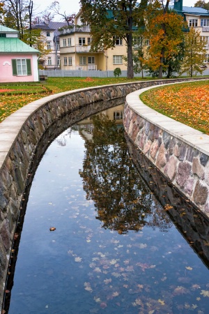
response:
[(19, 31), (0, 25), (0, 82), (38, 82), (38, 50), (19, 39)]

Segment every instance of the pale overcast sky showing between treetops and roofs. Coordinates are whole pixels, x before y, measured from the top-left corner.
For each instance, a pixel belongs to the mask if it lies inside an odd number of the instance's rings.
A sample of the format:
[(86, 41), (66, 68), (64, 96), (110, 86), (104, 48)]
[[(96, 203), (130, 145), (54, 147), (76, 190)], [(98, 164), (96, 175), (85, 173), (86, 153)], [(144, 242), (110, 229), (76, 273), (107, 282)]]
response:
[[(197, 0), (183, 0), (183, 6), (194, 6)], [(36, 13), (41, 13), (43, 10), (50, 6), (54, 2), (52, 0), (33, 0), (33, 9), (36, 8)], [(79, 12), (79, 0), (58, 0), (61, 12), (67, 14), (78, 13)], [(208, 1), (206, 1), (208, 2)], [(59, 16), (54, 18), (54, 20), (59, 21)]]

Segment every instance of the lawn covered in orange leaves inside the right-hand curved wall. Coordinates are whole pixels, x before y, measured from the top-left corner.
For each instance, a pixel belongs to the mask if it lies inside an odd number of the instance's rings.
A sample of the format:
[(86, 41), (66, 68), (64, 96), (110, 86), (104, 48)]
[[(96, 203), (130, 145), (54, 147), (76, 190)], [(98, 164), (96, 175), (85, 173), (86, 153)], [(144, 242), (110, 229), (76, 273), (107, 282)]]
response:
[(209, 80), (157, 87), (140, 98), (157, 112), (209, 135)]

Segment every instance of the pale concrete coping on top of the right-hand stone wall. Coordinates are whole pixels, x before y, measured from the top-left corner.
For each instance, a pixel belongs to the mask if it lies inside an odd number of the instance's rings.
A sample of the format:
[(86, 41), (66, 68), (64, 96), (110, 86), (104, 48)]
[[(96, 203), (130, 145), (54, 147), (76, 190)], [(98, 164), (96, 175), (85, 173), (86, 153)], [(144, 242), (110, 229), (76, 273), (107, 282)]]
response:
[[(192, 81), (187, 81), (192, 82)], [(194, 82), (194, 81), (193, 81)], [(176, 82), (172, 84), (182, 84), (182, 82)], [(166, 86), (171, 84), (166, 84)], [(161, 85), (162, 86), (162, 85)], [(165, 85), (164, 85), (165, 86)], [(177, 137), (181, 141), (189, 144), (191, 147), (198, 149), (203, 154), (209, 156), (209, 136), (205, 133), (202, 133), (199, 130), (195, 130), (190, 126), (186, 126), (181, 122), (173, 120), (163, 114), (153, 110), (152, 108), (145, 105), (139, 96), (144, 93), (144, 91), (148, 91), (149, 89), (157, 88), (159, 86), (154, 87), (146, 87), (144, 89), (140, 89), (132, 92), (126, 96), (127, 104), (141, 117), (148, 120), (150, 123), (162, 128), (162, 130), (167, 133)]]

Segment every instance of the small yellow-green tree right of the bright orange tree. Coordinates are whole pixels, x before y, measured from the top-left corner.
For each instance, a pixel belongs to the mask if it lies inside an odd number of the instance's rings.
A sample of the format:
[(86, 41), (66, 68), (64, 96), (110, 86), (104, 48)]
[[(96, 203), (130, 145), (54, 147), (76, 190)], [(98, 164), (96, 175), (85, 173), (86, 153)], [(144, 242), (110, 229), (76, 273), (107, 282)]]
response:
[(203, 61), (206, 54), (206, 43), (200, 36), (200, 31), (194, 27), (185, 34), (185, 52), (181, 65), (181, 73), (187, 73), (189, 77), (196, 73), (203, 73)]

